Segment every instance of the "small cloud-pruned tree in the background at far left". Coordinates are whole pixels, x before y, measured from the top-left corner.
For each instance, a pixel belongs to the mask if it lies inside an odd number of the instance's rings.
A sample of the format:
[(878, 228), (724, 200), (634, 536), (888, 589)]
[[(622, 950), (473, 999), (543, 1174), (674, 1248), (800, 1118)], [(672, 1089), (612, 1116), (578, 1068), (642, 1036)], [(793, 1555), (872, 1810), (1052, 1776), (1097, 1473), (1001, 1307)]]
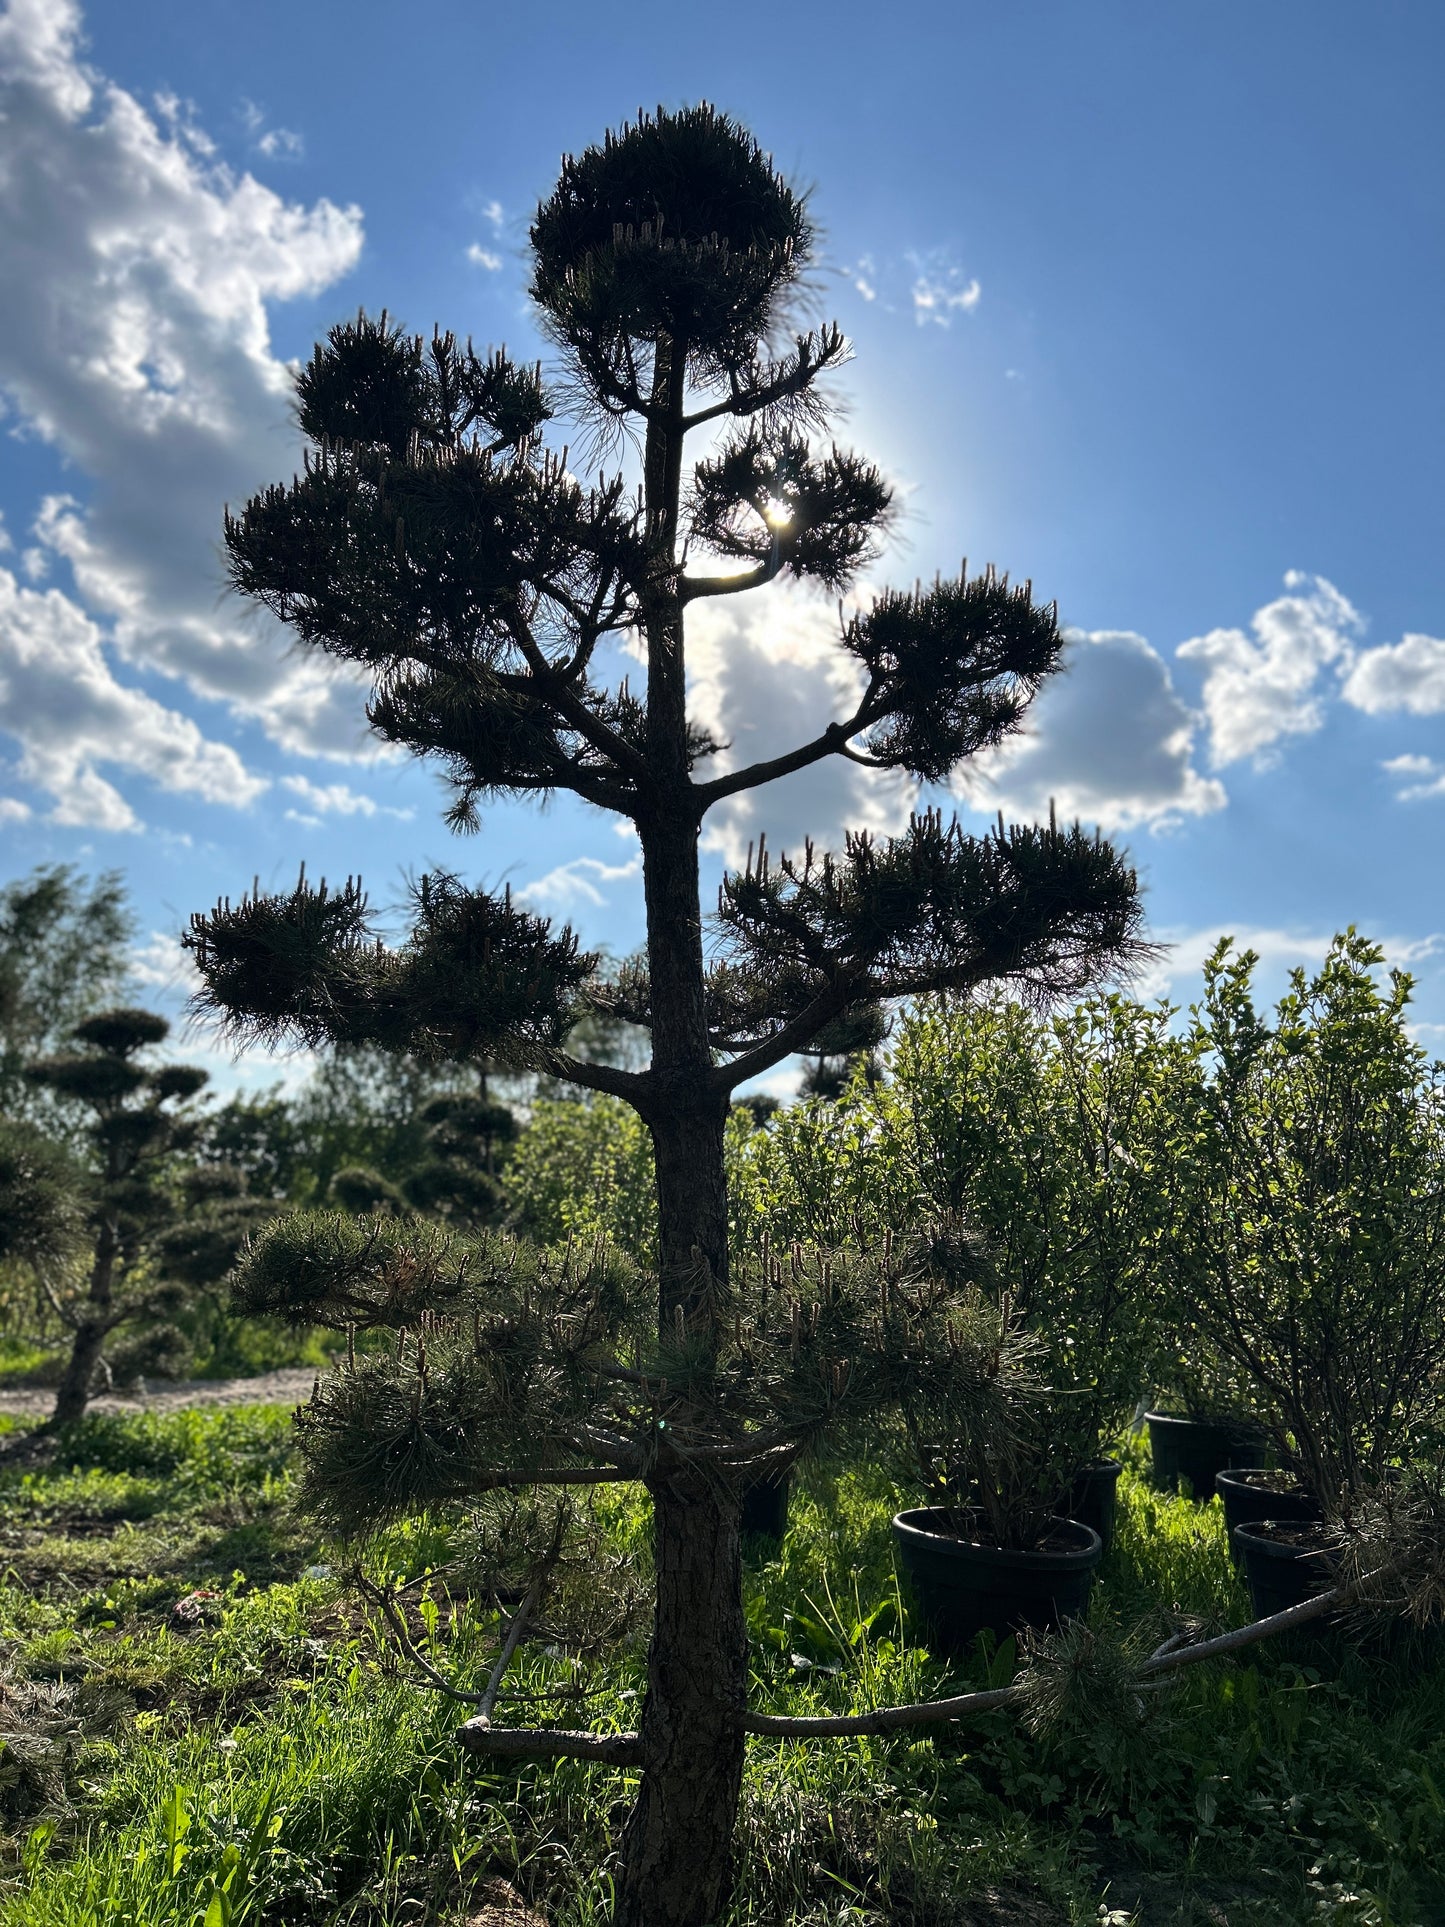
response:
[(106, 1010), (77, 1023), (79, 1048), (31, 1064), (25, 1075), (91, 1114), (87, 1137), (91, 1264), (81, 1289), (48, 1287), (50, 1303), (71, 1333), (69, 1359), (56, 1391), (50, 1426), (85, 1412), (106, 1343), (129, 1326), (131, 1372), (175, 1362), (179, 1333), (164, 1322), (185, 1285), (156, 1262), (162, 1233), (177, 1218), (171, 1191), (173, 1154), (195, 1135), (189, 1100), (206, 1083), (193, 1064), (146, 1064), (143, 1052), (170, 1035), (150, 1010)]

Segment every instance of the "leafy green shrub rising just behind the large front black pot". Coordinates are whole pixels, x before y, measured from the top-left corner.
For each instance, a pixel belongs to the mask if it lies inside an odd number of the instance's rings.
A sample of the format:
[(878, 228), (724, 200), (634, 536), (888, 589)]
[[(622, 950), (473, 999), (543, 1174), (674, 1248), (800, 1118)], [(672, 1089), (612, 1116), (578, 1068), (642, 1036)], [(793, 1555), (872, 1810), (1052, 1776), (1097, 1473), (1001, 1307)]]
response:
[[(1104, 1453), (1158, 1345), (1166, 1089), (1179, 1062), (1168, 1008), (1117, 994), (1048, 1019), (1008, 998), (934, 1004), (900, 1023), (882, 1095), (896, 1187), (979, 1227), (1006, 1314), (1038, 1345), (1050, 1387), (1027, 1472), (1042, 1482), (1038, 1517), (1083, 1518), (1106, 1544), (1119, 1465)], [(1013, 1490), (998, 1497), (1021, 1517)]]

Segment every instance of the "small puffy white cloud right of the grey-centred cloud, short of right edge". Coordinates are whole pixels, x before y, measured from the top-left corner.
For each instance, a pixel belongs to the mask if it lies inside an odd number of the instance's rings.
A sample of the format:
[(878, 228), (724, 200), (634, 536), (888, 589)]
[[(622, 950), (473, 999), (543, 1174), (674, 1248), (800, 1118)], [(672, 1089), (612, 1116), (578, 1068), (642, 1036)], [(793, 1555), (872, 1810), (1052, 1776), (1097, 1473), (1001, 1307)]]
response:
[[(1324, 723), (1320, 676), (1347, 673), (1362, 630), (1356, 609), (1326, 582), (1291, 570), (1287, 595), (1250, 617), (1241, 628), (1214, 628), (1175, 651), (1204, 667), (1204, 715), (1216, 769), (1254, 757), (1268, 767), (1281, 736), (1300, 736)], [(1324, 692), (1327, 694), (1327, 690)]]

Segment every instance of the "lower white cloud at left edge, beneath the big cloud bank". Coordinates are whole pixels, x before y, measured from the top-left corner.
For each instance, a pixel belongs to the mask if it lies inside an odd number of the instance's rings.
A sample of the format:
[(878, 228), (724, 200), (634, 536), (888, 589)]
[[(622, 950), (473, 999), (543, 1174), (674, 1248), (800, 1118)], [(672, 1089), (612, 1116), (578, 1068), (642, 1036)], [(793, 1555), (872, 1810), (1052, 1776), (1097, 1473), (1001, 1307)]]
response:
[(102, 765), (210, 804), (245, 805), (266, 788), (191, 717), (119, 684), (100, 628), (69, 595), (21, 588), (8, 568), (0, 568), (0, 719), (19, 740), (21, 780), (54, 798), (56, 823), (139, 827)]

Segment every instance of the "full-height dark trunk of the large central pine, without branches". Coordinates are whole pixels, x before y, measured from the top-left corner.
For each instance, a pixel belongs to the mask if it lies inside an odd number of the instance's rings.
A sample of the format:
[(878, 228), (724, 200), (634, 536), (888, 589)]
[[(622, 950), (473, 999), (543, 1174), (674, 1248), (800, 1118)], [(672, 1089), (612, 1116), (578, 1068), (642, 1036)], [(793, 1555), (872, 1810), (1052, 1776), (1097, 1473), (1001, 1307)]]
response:
[[(647, 424), (651, 547), (647, 763), (638, 815), (647, 898), (651, 1093), (645, 1122), (657, 1152), (659, 1337), (678, 1324), (717, 1345), (726, 1308), (728, 1195), (724, 1093), (711, 1089), (697, 892), (697, 802), (688, 769), (688, 688), (676, 526), (686, 349), (659, 343), (657, 412)], [(709, 1414), (699, 1412), (699, 1418)], [(615, 1927), (709, 1927), (730, 1892), (732, 1831), (742, 1790), (748, 1628), (742, 1615), (738, 1497), (697, 1470), (661, 1468), (651, 1482), (657, 1617), (642, 1711), (642, 1786), (622, 1836)]]

